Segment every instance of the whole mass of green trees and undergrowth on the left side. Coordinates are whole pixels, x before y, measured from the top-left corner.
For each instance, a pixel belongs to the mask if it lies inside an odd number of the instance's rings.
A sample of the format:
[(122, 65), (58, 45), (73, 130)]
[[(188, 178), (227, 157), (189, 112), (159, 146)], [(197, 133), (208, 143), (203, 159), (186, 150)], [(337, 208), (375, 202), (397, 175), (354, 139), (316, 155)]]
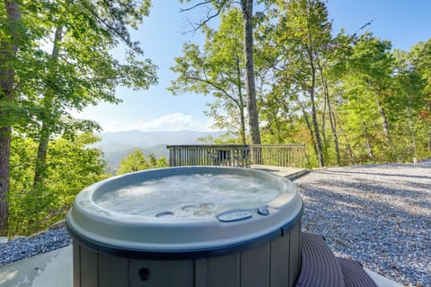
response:
[[(6, 150), (0, 152), (0, 232), (7, 226), (4, 195), (11, 204), (7, 231), (28, 234), (61, 218), (77, 191), (101, 178), (101, 154), (84, 150), (94, 139), (81, 134), (100, 127), (69, 111), (100, 101), (119, 103), (119, 85), (137, 90), (157, 83), (157, 67), (129, 32), (150, 6), (150, 0), (0, 4), (0, 131), (7, 134), (0, 136)], [(122, 60), (111, 53), (120, 44)], [(22, 170), (13, 170), (21, 161)]]

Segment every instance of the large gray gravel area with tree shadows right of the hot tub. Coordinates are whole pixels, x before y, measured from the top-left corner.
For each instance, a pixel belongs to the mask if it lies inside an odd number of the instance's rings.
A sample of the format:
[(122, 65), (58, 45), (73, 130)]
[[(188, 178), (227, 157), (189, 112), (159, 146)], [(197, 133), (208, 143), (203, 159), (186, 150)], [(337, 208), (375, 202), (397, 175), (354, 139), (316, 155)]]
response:
[(315, 170), (295, 180), (303, 230), (336, 256), (411, 286), (431, 286), (431, 164)]

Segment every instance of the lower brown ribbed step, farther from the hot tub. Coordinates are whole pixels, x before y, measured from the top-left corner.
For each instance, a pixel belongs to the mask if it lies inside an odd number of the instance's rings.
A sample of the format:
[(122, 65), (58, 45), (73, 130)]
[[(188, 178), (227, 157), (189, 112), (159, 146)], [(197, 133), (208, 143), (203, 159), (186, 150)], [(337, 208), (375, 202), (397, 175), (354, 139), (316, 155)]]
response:
[(361, 263), (356, 260), (337, 257), (344, 275), (346, 287), (378, 287), (373, 279), (365, 272)]

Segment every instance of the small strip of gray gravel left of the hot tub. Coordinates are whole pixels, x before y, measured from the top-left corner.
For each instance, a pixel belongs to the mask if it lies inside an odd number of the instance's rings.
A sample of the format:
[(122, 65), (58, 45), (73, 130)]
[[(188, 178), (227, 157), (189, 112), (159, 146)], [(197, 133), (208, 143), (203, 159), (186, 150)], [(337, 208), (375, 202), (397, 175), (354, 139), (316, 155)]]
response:
[(0, 266), (64, 248), (70, 244), (72, 244), (72, 239), (66, 228), (47, 230), (35, 236), (13, 239), (5, 244), (0, 244)]

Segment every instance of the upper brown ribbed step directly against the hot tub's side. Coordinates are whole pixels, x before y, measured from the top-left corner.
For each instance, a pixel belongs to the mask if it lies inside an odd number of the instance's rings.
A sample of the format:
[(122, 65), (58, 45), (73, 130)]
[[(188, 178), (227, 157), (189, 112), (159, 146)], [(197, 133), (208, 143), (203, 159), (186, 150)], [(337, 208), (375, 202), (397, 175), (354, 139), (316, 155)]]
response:
[(301, 252), (301, 273), (296, 287), (345, 287), (339, 260), (320, 235), (303, 233)]

